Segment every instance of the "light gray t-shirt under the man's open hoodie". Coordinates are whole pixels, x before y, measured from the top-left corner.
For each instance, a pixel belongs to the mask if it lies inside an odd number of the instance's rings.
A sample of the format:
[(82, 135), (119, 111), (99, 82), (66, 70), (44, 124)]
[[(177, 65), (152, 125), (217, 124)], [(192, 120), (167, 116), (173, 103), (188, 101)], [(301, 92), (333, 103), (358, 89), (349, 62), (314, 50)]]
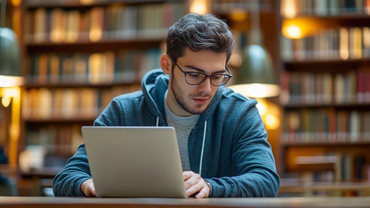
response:
[(172, 113), (166, 102), (167, 92), (168, 90), (166, 90), (164, 96), (164, 111), (166, 114), (167, 123), (168, 126), (172, 126), (176, 130), (177, 143), (179, 145), (181, 157), (182, 171), (190, 171), (188, 138), (191, 130), (194, 128), (196, 122), (198, 121), (199, 115), (197, 114), (183, 117)]

